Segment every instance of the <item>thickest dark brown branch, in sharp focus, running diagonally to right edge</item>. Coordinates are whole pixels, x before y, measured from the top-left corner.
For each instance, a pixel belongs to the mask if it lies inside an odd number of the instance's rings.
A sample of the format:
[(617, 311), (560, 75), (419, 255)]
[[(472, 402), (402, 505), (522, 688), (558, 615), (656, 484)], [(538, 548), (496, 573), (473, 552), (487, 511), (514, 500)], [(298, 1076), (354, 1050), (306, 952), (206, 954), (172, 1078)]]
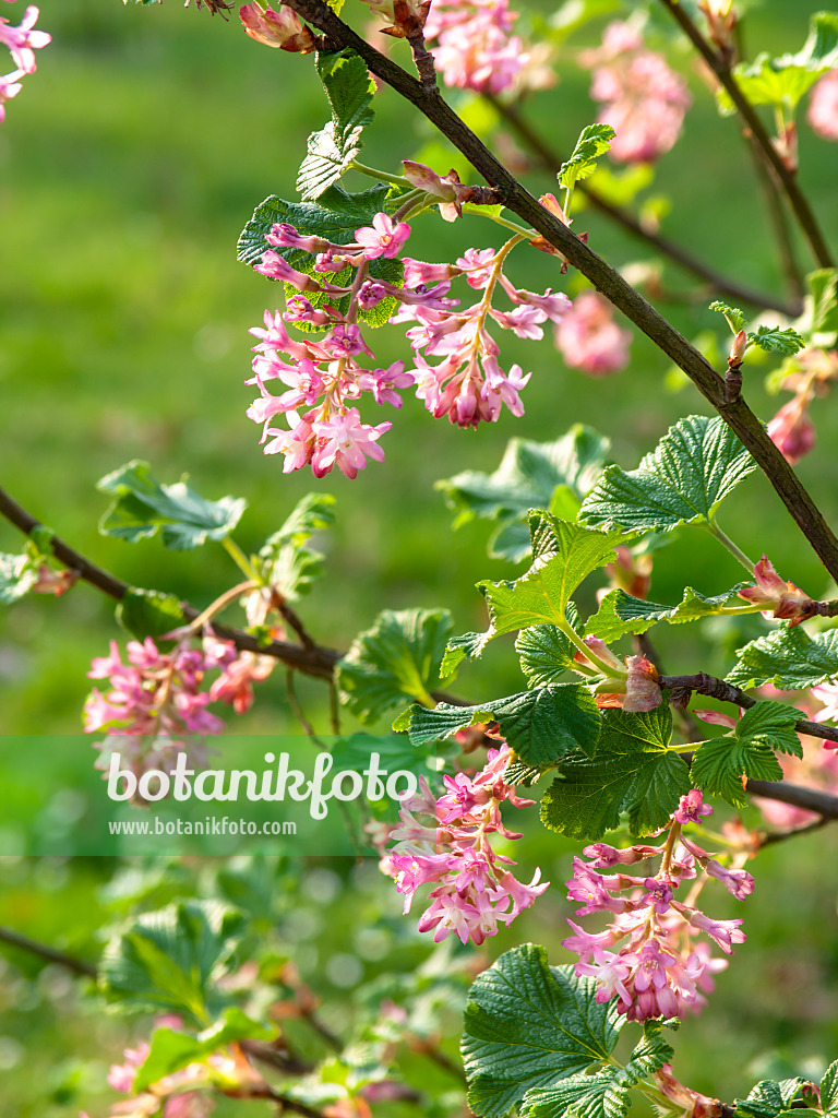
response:
[(550, 214), (493, 155), (457, 116), (438, 89), (427, 89), (396, 63), (347, 27), (323, 0), (288, 0), (292, 8), (323, 30), (336, 45), (351, 47), (370, 70), (428, 117), (486, 181), (498, 189), (504, 205), (540, 233), (550, 245), (622, 311), (658, 349), (689, 377), (702, 395), (739, 436), (773, 485), (798, 527), (831, 577), (838, 581), (838, 539), (794, 471), (742, 399), (725, 399), (724, 380), (704, 357), (623, 277)]

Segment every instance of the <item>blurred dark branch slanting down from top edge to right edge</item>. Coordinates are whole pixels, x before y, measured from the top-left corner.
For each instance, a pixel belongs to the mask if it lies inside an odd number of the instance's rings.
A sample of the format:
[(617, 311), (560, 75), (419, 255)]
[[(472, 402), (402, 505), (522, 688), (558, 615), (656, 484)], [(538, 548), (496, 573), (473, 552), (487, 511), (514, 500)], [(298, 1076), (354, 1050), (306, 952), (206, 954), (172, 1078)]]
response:
[(660, 2), (680, 26), (680, 29), (716, 75), (722, 84), (722, 87), (733, 102), (736, 112), (742, 119), (745, 133), (750, 135), (754, 145), (759, 149), (760, 155), (768, 162), (771, 170), (777, 176), (779, 184), (782, 188), (783, 193), (791, 206), (792, 212), (803, 231), (803, 236), (807, 239), (818, 267), (835, 267), (832, 254), (829, 250), (829, 246), (827, 245), (818, 221), (811, 210), (811, 207), (809, 206), (809, 201), (800, 189), (794, 172), (791, 171), (781, 159), (780, 153), (774, 146), (771, 136), (756, 113), (756, 110), (742, 93), (742, 89), (731, 70), (730, 59), (723, 57), (722, 54), (715, 50), (704, 38), (702, 32), (691, 19), (689, 15), (684, 10), (684, 4), (679, 3), (678, 0), (660, 0)]

